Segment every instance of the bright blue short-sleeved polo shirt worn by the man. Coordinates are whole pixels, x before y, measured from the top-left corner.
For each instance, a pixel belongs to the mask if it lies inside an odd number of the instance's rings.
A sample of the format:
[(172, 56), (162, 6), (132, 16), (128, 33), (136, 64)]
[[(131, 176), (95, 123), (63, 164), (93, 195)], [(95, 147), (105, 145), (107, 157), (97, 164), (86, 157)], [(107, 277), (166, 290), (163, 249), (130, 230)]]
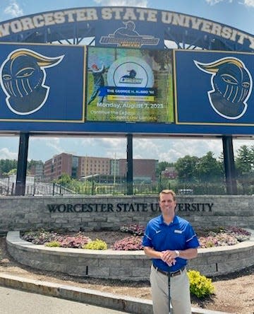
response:
[[(179, 216), (174, 216), (173, 221), (167, 225), (164, 223), (162, 215), (151, 219), (147, 223), (143, 246), (149, 246), (156, 251), (165, 250), (186, 250), (188, 248), (199, 247), (198, 238), (191, 226), (191, 223)], [(152, 258), (155, 267), (164, 272), (176, 272), (187, 264), (187, 260), (176, 257), (176, 264), (169, 265), (160, 259)]]

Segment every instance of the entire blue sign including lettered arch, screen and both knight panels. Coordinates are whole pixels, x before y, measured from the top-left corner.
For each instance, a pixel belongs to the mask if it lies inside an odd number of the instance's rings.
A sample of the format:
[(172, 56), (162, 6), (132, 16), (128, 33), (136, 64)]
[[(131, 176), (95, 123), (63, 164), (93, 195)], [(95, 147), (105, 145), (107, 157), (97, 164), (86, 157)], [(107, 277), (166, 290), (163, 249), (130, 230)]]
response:
[[(99, 47), (80, 46), (85, 37)], [(1, 132), (254, 132), (254, 37), (229, 25), (153, 8), (69, 8), (1, 22), (0, 41)], [(183, 48), (174, 58), (169, 42)]]

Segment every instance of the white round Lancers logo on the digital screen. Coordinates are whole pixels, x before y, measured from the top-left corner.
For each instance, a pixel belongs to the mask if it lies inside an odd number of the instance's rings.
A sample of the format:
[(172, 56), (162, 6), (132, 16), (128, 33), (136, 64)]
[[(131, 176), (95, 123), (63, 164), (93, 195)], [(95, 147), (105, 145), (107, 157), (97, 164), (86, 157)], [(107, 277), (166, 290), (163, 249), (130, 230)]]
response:
[(109, 67), (107, 83), (109, 86), (151, 88), (154, 76), (150, 65), (143, 59), (123, 57)]

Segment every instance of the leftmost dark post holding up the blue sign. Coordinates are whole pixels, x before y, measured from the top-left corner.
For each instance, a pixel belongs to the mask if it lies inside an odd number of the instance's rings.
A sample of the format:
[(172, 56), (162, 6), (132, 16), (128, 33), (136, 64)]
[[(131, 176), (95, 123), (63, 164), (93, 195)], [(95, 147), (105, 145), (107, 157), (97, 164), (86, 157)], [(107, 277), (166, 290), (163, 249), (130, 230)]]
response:
[(15, 191), (16, 195), (25, 195), (25, 178), (28, 166), (28, 141), (29, 133), (20, 133)]

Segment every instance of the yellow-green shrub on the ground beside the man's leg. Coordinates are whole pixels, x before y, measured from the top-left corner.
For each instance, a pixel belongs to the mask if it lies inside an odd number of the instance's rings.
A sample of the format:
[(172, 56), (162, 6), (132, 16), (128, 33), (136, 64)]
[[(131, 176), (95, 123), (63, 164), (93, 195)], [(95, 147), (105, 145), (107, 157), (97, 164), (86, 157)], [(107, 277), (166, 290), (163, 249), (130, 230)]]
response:
[(191, 294), (198, 298), (205, 298), (214, 293), (215, 288), (212, 279), (208, 279), (195, 270), (188, 270), (187, 274), (190, 280)]

